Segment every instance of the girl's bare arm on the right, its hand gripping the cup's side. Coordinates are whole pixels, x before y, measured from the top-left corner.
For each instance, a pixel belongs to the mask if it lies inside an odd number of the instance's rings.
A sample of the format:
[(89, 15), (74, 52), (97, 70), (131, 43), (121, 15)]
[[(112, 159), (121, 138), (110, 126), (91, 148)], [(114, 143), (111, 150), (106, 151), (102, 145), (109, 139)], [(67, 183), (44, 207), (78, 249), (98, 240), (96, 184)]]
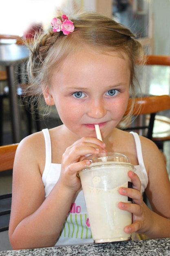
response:
[(119, 190), (119, 193), (132, 197), (134, 201), (134, 204), (119, 203), (120, 209), (133, 213), (133, 223), (125, 231), (146, 234), (148, 238), (170, 237), (170, 180), (165, 162), (152, 141), (141, 138), (141, 143), (149, 180), (146, 195), (153, 211), (143, 201), (139, 178), (130, 172), (133, 189)]

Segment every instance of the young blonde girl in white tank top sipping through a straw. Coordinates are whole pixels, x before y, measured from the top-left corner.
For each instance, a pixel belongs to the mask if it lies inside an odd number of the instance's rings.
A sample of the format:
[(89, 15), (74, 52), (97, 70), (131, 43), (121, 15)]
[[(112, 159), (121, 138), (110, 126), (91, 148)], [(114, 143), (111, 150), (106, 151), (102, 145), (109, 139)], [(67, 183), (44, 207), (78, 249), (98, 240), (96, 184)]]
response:
[(125, 232), (170, 236), (164, 160), (152, 141), (117, 128), (130, 115), (124, 117), (129, 93), (135, 92), (135, 64), (143, 57), (129, 29), (97, 13), (59, 15), (35, 40), (28, 64), (32, 93), (56, 106), (63, 125), (36, 132), (18, 146), (9, 226), (13, 249), (93, 243), (77, 171), (91, 164), (87, 154), (106, 151), (124, 153), (137, 169), (128, 172), (133, 188), (119, 189), (134, 202), (118, 203), (133, 216)]

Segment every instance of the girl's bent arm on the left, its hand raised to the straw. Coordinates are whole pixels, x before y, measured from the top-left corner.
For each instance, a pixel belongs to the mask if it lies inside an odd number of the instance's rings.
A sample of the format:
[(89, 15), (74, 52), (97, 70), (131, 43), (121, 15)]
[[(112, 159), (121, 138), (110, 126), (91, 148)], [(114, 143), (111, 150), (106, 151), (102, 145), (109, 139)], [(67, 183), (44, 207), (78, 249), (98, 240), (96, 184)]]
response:
[(55, 245), (74, 195), (81, 187), (77, 171), (90, 164), (78, 161), (87, 153), (98, 153), (96, 148), (102, 150), (102, 142), (96, 138), (80, 139), (67, 148), (62, 158), (60, 179), (45, 199), (40, 173), (45, 159), (43, 135), (41, 132), (31, 135), (20, 143), (13, 168), (9, 226), (13, 249)]

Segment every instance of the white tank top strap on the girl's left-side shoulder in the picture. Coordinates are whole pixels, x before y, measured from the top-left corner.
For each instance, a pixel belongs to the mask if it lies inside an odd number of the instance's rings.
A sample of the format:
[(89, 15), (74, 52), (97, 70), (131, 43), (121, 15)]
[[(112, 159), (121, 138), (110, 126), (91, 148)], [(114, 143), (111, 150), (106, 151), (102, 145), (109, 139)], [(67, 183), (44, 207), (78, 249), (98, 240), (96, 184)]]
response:
[(45, 139), (45, 167), (42, 177), (46, 178), (46, 175), (48, 174), (49, 168), (51, 166), (51, 138), (48, 128), (42, 130), (44, 134)]

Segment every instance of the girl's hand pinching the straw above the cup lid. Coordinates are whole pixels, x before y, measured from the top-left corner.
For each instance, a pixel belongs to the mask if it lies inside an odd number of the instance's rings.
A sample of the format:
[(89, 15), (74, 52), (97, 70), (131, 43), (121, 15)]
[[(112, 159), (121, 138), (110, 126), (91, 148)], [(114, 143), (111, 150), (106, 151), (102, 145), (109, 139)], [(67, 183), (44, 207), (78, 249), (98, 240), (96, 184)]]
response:
[(77, 192), (81, 187), (77, 172), (91, 164), (90, 161), (84, 160), (85, 156), (102, 152), (106, 152), (105, 144), (97, 138), (83, 137), (75, 141), (62, 155), (60, 182)]

